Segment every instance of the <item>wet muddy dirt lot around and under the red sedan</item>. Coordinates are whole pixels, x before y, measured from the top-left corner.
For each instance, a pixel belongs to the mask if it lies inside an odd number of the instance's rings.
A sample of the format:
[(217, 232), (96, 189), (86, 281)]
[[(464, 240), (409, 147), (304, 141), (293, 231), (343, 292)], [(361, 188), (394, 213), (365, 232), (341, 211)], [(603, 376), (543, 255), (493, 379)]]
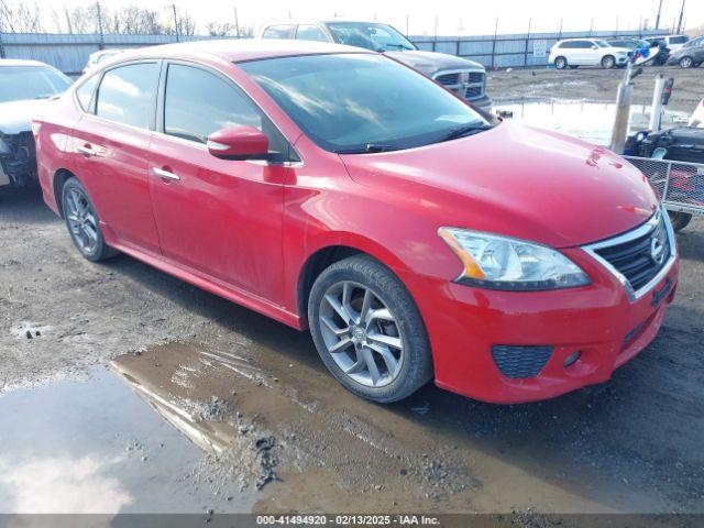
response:
[[(518, 79), (493, 74), (494, 97), (534, 90)], [(127, 256), (91, 264), (35, 193), (0, 190), (0, 512), (704, 513), (704, 221), (679, 244), (664, 327), (609, 383), (377, 406), (308, 334)]]

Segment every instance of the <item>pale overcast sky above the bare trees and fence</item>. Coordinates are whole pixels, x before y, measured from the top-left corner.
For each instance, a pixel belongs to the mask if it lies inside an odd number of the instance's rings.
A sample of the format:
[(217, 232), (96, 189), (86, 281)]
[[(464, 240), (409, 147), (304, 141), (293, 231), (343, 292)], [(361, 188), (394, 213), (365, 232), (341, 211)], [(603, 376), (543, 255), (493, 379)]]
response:
[[(170, 0), (101, 0), (108, 7), (136, 3), (150, 9), (166, 11)], [(638, 28), (640, 20), (654, 23), (660, 0), (175, 0), (187, 10), (204, 31), (209, 21), (228, 21), (234, 18), (237, 6), (241, 24), (260, 26), (272, 19), (320, 19), (333, 15), (350, 19), (388, 22), (402, 32), (429, 34), (435, 31), (446, 35), (490, 34), (499, 19), (499, 33), (525, 32), (528, 19), (532, 31), (557, 31), (560, 19), (563, 31), (588, 30), (592, 19), (594, 30), (613, 30), (618, 20), (619, 29)], [(68, 3), (89, 3), (89, 0), (68, 0)], [(662, 0), (661, 28), (672, 25), (680, 13), (682, 0)], [(704, 0), (686, 0), (688, 26), (704, 24)]]

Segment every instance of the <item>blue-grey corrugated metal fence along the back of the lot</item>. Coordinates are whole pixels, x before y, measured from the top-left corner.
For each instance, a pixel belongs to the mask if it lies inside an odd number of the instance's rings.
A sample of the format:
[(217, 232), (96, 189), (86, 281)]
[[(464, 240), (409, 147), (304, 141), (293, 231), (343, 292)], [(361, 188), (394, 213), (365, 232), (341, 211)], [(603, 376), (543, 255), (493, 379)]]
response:
[[(544, 57), (534, 56), (534, 45), (544, 41), (546, 51), (560, 38), (571, 37), (614, 37), (648, 36), (662, 32), (619, 31), (593, 33), (535, 33), (488, 36), (410, 36), (420, 48), (459, 55), (476, 61), (486, 67), (505, 68), (522, 66), (544, 66)], [(180, 36), (182, 42), (212, 38), (209, 36)], [(101, 47), (142, 47), (176, 42), (172, 35), (64, 35), (43, 33), (2, 33), (0, 51), (7, 58), (30, 58), (57, 67), (66, 74), (79, 73), (88, 59), (88, 55)], [(539, 42), (539, 44), (541, 44)]]

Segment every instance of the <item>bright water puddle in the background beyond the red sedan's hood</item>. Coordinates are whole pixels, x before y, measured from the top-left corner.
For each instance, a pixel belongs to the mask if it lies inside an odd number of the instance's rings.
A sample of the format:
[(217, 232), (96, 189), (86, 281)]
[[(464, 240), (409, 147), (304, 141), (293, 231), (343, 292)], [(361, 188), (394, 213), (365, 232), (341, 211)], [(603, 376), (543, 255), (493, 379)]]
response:
[[(616, 112), (615, 103), (582, 101), (496, 103), (495, 108), (513, 112), (513, 121), (554, 130), (605, 146), (610, 142)], [(689, 117), (686, 112), (666, 109), (662, 116), (662, 127), (672, 127), (676, 124), (678, 120), (686, 117)], [(630, 107), (631, 132), (647, 129), (649, 120), (649, 106), (634, 105)]]

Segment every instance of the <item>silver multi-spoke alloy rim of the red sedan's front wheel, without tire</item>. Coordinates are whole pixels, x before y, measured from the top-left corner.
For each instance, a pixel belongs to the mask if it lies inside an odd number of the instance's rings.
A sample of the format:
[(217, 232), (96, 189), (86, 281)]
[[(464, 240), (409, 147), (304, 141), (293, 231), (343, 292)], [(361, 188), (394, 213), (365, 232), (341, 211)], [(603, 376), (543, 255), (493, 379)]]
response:
[(369, 387), (396, 380), (404, 337), (377, 293), (351, 280), (336, 283), (320, 301), (318, 322), (328, 353), (350, 378)]

